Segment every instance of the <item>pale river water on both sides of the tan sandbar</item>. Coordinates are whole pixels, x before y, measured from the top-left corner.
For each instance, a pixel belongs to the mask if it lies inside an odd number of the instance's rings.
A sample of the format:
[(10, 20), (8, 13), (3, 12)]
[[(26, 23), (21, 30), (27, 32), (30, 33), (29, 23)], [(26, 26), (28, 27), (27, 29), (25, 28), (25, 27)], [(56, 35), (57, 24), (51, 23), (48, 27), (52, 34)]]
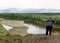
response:
[[(6, 30), (13, 29), (13, 27), (10, 27), (10, 26), (4, 25), (4, 24), (2, 24), (2, 25)], [(28, 34), (45, 34), (45, 32), (46, 32), (45, 29), (35, 26), (33, 24), (24, 24), (24, 25), (28, 27), (28, 30), (27, 30)]]

